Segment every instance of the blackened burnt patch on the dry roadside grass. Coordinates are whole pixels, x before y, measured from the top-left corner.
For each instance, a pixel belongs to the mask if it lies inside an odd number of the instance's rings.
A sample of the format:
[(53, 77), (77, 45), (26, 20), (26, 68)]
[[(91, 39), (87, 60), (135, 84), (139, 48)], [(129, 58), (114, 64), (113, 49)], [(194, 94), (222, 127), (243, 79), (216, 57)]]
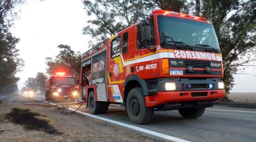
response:
[(63, 134), (58, 132), (53, 126), (49, 125), (46, 120), (38, 119), (35, 116), (42, 116), (38, 113), (33, 113), (29, 109), (13, 108), (6, 117), (14, 124), (22, 125), (25, 130), (44, 131), (48, 134)]

